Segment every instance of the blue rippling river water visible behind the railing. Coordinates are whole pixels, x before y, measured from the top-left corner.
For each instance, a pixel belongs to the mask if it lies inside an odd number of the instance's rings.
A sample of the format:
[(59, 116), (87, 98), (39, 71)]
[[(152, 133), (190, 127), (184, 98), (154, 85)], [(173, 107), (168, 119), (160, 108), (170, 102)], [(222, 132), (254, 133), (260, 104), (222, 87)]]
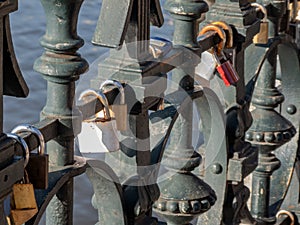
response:
[[(85, 0), (78, 21), (78, 34), (85, 40), (85, 45), (79, 50), (82, 57), (91, 65), (90, 72), (96, 71), (93, 63), (104, 52), (103, 48), (93, 46), (92, 39), (101, 8), (100, 0)], [(20, 0), (19, 10), (10, 14), (11, 30), (15, 53), (23, 76), (30, 89), (26, 99), (4, 97), (4, 132), (10, 132), (21, 123), (39, 121), (39, 113), (46, 102), (46, 81), (35, 71), (33, 63), (43, 49), (39, 38), (45, 32), (45, 14), (38, 0)], [(165, 25), (152, 29), (153, 36), (172, 39), (172, 21), (165, 17)], [(97, 222), (96, 210), (91, 206), (91, 185), (85, 175), (75, 179), (74, 224), (90, 225)], [(105, 203), (104, 203), (105, 204)], [(40, 224), (44, 224), (45, 219)]]

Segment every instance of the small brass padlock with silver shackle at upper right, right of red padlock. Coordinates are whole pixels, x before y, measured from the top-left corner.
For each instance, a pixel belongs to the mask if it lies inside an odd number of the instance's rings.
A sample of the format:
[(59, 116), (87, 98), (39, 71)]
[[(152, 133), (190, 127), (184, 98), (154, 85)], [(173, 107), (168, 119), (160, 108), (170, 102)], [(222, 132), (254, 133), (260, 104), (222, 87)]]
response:
[(269, 23), (267, 21), (267, 9), (256, 2), (251, 3), (251, 6), (256, 7), (258, 10), (261, 10), (264, 14), (264, 18), (260, 22), (259, 33), (253, 37), (254, 44), (267, 44), (269, 40)]

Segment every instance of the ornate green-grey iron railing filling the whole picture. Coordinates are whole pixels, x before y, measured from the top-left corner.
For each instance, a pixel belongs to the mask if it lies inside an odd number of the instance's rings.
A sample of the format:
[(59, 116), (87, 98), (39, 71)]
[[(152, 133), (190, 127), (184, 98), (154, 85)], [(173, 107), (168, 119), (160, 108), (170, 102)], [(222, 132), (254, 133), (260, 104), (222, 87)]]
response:
[[(112, 49), (85, 92), (98, 98), (81, 96), (78, 104), (75, 81), (88, 69), (77, 53), (84, 44), (76, 31), (82, 0), (41, 2), (47, 27), (34, 69), (47, 80), (47, 103), (34, 126), (47, 142), (48, 187), (35, 189), (38, 212), (23, 222), (38, 224), (47, 209), (48, 225), (72, 224), (73, 177), (86, 173), (97, 224), (298, 224), (297, 2), (264, 1), (264, 9), (247, 0), (217, 0), (208, 11), (202, 0), (166, 0), (175, 24), (170, 42), (150, 39), (150, 25), (164, 22), (158, 0), (103, 0), (92, 42)], [(17, 0), (0, 2), (1, 99), (28, 94), (10, 34), (8, 15), (16, 9)], [(267, 40), (254, 44), (257, 33)], [(221, 60), (209, 81), (196, 74), (206, 51)], [(99, 90), (108, 79), (118, 88)], [(107, 107), (105, 98), (122, 124), (118, 151), (74, 156), (76, 136)], [(96, 120), (91, 124), (112, 122)], [(6, 225), (28, 160), (20, 157), (22, 140), (30, 151), (41, 143), (29, 131), (15, 140), (0, 121), (0, 224)], [(200, 147), (193, 144), (199, 130)], [(251, 188), (245, 185), (250, 175)]]

